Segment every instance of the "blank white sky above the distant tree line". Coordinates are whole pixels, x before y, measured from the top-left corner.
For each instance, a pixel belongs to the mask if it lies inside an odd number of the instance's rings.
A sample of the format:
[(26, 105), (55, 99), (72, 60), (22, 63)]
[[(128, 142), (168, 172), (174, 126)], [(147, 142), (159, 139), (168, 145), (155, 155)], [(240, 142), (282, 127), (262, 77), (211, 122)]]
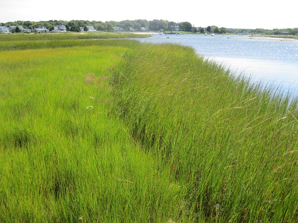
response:
[(163, 19), (195, 26), (297, 28), (296, 0), (0, 0), (0, 22)]

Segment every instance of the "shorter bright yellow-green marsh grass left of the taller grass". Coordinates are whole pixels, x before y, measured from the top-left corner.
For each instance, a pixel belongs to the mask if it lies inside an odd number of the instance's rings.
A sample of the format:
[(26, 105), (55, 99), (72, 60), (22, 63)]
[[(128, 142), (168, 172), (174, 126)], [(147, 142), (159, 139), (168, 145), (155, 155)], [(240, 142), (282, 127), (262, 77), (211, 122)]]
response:
[(179, 188), (113, 113), (110, 70), (139, 45), (0, 52), (0, 222), (166, 222), (176, 213)]

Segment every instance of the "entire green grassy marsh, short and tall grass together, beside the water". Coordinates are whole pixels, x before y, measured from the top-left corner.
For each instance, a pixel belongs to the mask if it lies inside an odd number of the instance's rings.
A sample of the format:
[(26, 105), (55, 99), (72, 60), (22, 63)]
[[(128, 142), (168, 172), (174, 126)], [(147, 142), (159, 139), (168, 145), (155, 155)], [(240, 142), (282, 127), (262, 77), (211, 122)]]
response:
[(0, 44), (0, 222), (297, 221), (296, 99), (187, 47)]

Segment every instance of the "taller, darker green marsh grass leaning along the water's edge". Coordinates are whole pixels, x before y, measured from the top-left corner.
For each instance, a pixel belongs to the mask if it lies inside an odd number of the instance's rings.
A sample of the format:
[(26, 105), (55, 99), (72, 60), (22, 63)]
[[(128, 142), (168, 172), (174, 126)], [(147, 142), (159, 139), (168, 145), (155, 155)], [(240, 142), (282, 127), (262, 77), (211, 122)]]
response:
[(129, 52), (114, 82), (131, 135), (183, 188), (177, 221), (297, 221), (297, 99), (176, 45)]

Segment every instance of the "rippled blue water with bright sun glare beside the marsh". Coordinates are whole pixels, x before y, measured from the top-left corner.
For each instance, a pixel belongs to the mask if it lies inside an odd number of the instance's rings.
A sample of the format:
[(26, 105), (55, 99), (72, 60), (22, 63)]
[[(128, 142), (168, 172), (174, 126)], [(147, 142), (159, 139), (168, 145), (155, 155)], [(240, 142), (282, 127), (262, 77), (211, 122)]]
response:
[(285, 93), (291, 91), (298, 96), (298, 40), (238, 35), (152, 35), (140, 41), (191, 46), (198, 55), (249, 75), (253, 82), (273, 84)]

